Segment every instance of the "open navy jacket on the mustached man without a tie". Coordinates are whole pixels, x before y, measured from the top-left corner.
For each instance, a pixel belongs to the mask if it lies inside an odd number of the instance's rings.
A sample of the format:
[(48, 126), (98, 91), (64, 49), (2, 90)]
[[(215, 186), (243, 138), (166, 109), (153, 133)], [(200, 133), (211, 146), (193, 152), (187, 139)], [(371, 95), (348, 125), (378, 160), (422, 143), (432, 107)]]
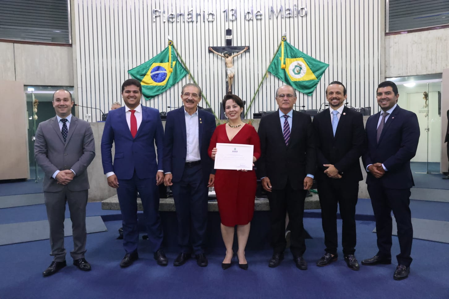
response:
[[(212, 113), (198, 109), (198, 138), (201, 166), (205, 182), (209, 174), (215, 173), (212, 160), (207, 154), (207, 148), (216, 127)], [(172, 173), (172, 182), (179, 182), (182, 178), (187, 155), (187, 133), (185, 129), (184, 106), (167, 113), (164, 137), (164, 172)]]

